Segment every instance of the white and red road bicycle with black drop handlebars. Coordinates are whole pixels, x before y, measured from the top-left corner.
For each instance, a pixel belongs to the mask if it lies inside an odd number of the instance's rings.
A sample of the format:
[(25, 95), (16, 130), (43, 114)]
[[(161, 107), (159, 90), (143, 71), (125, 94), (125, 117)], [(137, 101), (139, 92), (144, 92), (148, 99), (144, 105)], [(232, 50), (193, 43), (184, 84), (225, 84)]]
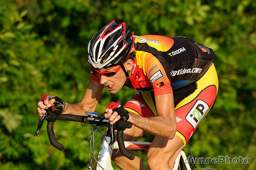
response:
[[(89, 124), (92, 128), (92, 134), (90, 136), (90, 155), (91, 160), (88, 165), (88, 169), (96, 169), (96, 170), (114, 170), (112, 167), (111, 156), (114, 150), (119, 150), (123, 156), (126, 158), (133, 160), (135, 156), (131, 154), (131, 152), (127, 150), (148, 150), (151, 145), (151, 142), (128, 142), (123, 141), (123, 131), (125, 129), (131, 128), (132, 124), (127, 121), (119, 120), (115, 124), (110, 125), (108, 119), (99, 116), (96, 112), (85, 112), (87, 116), (77, 116), (71, 114), (60, 114), (57, 115), (53, 113), (51, 110), (47, 110), (47, 113), (39, 118), (38, 129), (36, 130), (35, 136), (38, 135), (40, 129), (42, 128), (43, 121), (47, 120), (47, 134), (49, 138), (49, 142), (51, 145), (58, 150), (62, 151), (64, 146), (56, 140), (55, 133), (53, 131), (53, 124), (56, 120), (65, 120), (65, 121), (76, 121), (76, 122), (84, 122)], [(95, 126), (98, 126), (96, 128)], [(99, 131), (102, 127), (108, 127), (107, 134), (104, 135)], [(117, 130), (117, 142), (115, 141), (115, 130)], [(98, 159), (94, 157), (94, 133), (98, 131), (101, 133), (103, 140), (100, 148), (100, 152), (98, 153)], [(187, 147), (188, 148), (188, 147)], [(190, 150), (190, 149), (189, 149)], [(192, 152), (191, 152), (192, 155)], [(193, 158), (193, 155), (192, 155)], [(94, 164), (94, 160), (96, 161), (96, 165)], [(192, 166), (188, 163), (188, 158), (185, 155), (183, 150), (180, 151), (179, 155), (175, 160), (174, 167), (172, 170), (194, 170), (196, 169), (196, 163), (192, 163)], [(201, 168), (198, 170), (216, 170), (213, 168)]]

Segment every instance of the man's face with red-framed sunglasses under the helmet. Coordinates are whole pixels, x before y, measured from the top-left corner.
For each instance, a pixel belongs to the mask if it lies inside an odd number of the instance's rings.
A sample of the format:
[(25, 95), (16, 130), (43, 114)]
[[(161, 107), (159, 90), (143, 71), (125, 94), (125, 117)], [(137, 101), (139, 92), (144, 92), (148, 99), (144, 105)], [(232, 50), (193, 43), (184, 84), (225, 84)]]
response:
[[(111, 94), (116, 94), (126, 82), (126, 75), (121, 66), (102, 68), (98, 71), (102, 74), (106, 73), (104, 75), (98, 73), (98, 76), (100, 77), (100, 83), (106, 86)], [(111, 76), (108, 76), (111, 71), (114, 71), (115, 75), (110, 74)]]

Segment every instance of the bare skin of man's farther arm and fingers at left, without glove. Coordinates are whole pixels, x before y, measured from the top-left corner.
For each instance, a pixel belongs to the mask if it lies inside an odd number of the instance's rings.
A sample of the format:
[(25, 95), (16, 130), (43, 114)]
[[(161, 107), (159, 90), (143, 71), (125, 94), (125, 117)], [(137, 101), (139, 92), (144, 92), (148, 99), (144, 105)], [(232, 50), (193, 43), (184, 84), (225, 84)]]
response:
[[(102, 84), (90, 80), (81, 101), (76, 104), (65, 102), (65, 110), (62, 114), (85, 115), (85, 111), (95, 111), (103, 88), (104, 86)], [(49, 101), (44, 100), (44, 102), (39, 101), (38, 106), (43, 109), (48, 109), (53, 106), (54, 101), (55, 99)], [(46, 111), (41, 111), (40, 108), (38, 108), (39, 115), (43, 116)]]

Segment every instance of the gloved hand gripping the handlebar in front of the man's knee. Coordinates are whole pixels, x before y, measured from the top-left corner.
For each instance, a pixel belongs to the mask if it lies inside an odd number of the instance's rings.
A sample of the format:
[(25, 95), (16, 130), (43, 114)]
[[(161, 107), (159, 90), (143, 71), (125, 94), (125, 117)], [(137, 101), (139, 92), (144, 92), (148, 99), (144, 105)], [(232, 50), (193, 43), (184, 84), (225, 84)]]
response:
[(120, 119), (127, 121), (130, 116), (129, 112), (121, 105), (112, 102), (106, 107), (104, 117), (109, 118), (110, 124), (114, 124)]

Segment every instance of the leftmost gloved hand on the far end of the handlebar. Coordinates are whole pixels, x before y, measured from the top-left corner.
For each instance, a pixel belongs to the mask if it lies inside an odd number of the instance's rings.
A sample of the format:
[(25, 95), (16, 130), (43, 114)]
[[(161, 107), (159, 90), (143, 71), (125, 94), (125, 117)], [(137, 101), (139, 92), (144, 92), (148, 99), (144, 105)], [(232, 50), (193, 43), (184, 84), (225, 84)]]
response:
[(43, 116), (46, 113), (46, 109), (52, 109), (52, 112), (61, 114), (65, 109), (65, 102), (57, 96), (44, 95), (43, 98), (38, 102), (38, 114)]

